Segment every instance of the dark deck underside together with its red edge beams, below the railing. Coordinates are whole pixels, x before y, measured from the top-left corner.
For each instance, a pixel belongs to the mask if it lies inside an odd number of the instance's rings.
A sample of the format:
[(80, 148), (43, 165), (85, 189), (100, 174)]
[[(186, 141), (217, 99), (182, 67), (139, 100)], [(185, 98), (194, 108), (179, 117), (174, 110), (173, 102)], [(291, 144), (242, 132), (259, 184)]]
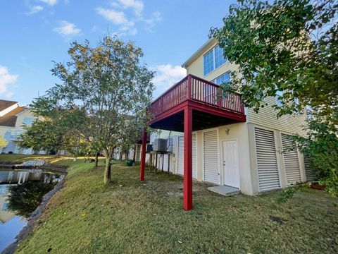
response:
[(192, 131), (204, 130), (224, 126), (230, 123), (239, 123), (246, 121), (245, 115), (237, 114), (230, 111), (220, 110), (210, 106), (185, 102), (177, 109), (171, 109), (163, 114), (156, 116), (151, 121), (151, 128), (166, 131), (184, 131), (184, 111), (183, 107), (192, 108)]

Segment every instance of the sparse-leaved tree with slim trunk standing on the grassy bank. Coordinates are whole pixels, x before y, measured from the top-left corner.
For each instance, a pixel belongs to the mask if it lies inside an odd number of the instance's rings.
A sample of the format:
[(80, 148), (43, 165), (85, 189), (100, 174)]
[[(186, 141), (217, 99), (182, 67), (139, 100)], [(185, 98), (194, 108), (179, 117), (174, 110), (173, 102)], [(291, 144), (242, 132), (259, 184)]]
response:
[(32, 107), (41, 114), (70, 107), (84, 112), (83, 121), (76, 121), (72, 129), (103, 150), (104, 183), (109, 183), (113, 150), (120, 146), (125, 129), (135, 121), (146, 128), (154, 72), (140, 63), (142, 49), (118, 37), (106, 36), (96, 47), (88, 41), (73, 42), (68, 54), (70, 61), (55, 63), (51, 70), (61, 84), (36, 99)]

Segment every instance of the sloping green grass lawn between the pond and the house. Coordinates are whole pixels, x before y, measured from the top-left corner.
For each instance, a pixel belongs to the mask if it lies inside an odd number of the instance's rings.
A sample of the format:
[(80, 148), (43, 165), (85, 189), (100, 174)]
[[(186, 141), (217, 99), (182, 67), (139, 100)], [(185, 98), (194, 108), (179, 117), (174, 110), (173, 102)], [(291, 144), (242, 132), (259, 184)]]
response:
[[(1, 160), (1, 157), (0, 157)], [(224, 197), (194, 183), (194, 210), (182, 210), (182, 178), (114, 164), (59, 160), (71, 167), (64, 188), (46, 207), (17, 253), (336, 253), (337, 198), (324, 191), (280, 191)], [(100, 162), (103, 164), (103, 161)], [(335, 206), (336, 205), (336, 206)]]

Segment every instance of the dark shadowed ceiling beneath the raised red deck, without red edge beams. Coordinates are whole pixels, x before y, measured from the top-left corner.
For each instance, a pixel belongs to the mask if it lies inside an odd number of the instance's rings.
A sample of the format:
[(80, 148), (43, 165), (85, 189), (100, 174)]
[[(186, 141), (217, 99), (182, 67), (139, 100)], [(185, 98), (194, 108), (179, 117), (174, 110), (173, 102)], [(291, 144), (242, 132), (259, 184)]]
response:
[[(223, 116), (216, 116), (208, 114), (203, 111), (192, 110), (192, 131), (204, 130), (206, 128), (213, 128), (223, 126), (230, 123), (236, 123), (234, 119), (225, 118)], [(151, 128), (166, 130), (166, 131), (184, 131), (184, 111), (168, 116), (165, 119), (151, 123)]]

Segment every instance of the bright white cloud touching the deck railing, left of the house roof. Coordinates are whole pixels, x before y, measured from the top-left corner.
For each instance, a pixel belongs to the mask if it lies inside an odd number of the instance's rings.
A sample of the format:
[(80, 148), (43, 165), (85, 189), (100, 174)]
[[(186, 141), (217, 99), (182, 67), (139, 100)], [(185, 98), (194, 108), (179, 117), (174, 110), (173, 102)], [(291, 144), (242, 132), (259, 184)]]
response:
[(160, 95), (169, 87), (180, 81), (187, 75), (187, 70), (181, 66), (173, 66), (171, 64), (156, 65), (152, 68), (156, 71), (153, 83), (156, 86), (155, 95)]

